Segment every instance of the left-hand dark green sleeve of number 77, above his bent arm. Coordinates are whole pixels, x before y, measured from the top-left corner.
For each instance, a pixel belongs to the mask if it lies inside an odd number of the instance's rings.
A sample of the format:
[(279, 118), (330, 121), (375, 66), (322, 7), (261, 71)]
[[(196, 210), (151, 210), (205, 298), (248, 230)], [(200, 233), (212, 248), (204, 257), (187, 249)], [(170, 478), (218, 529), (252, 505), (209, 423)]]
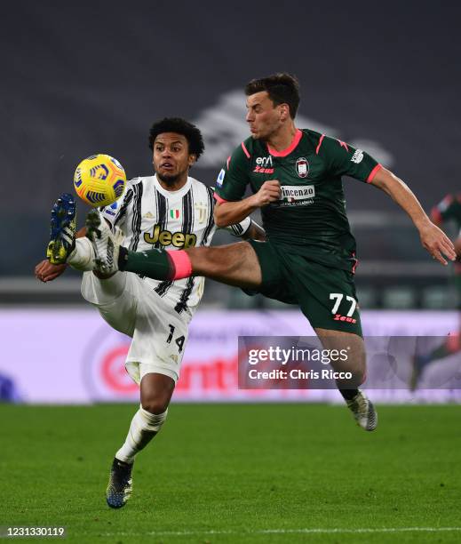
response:
[(250, 182), (250, 153), (244, 142), (227, 158), (216, 180), (215, 198), (218, 202), (242, 200)]

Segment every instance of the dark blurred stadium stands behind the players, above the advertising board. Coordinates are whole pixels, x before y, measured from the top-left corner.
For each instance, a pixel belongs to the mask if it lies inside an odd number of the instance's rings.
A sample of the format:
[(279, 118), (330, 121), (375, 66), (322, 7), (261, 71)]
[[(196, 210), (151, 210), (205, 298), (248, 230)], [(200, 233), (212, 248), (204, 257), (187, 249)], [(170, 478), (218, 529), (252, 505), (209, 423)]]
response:
[[(193, 174), (212, 184), (247, 133), (243, 84), (277, 70), (298, 75), (305, 124), (368, 149), (409, 183), (426, 210), (457, 188), (457, 4), (4, 5), (0, 292), (6, 302), (43, 300), (41, 286), (30, 283), (32, 271), (44, 255), (51, 204), (71, 188), (81, 158), (107, 152), (129, 176), (149, 174), (149, 125), (184, 116), (199, 124), (208, 144)], [(362, 307), (450, 305), (448, 270), (428, 259), (404, 213), (354, 180), (346, 180), (346, 198), (358, 239)], [(55, 285), (47, 286), (46, 300), (80, 300), (72, 277), (59, 296), (52, 294)], [(216, 300), (266, 304), (209, 282), (205, 302)]]

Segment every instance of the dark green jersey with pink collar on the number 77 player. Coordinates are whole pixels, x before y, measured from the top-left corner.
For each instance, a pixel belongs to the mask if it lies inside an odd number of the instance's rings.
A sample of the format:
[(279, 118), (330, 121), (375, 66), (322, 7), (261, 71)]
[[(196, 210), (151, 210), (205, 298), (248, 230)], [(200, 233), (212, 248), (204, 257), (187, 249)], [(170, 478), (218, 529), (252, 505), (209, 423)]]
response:
[(341, 177), (370, 183), (380, 168), (362, 149), (309, 129), (297, 130), (283, 151), (248, 138), (219, 172), (215, 196), (219, 202), (238, 201), (248, 185), (257, 193), (265, 181), (279, 180), (281, 200), (261, 208), (270, 242), (326, 266), (354, 271), (355, 239)]

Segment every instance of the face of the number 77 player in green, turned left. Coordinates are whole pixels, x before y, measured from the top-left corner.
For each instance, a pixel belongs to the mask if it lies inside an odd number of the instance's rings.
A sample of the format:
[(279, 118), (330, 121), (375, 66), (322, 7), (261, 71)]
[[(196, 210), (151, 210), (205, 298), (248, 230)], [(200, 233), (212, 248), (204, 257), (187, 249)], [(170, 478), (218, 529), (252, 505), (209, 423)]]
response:
[(285, 105), (274, 106), (266, 91), (255, 92), (247, 98), (246, 121), (251, 136), (257, 140), (269, 140), (282, 126)]

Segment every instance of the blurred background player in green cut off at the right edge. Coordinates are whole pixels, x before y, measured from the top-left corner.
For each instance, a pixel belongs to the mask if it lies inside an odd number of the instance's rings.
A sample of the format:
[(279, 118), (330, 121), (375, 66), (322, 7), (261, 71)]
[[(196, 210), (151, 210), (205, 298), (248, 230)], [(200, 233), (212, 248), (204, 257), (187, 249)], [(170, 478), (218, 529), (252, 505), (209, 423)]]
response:
[[(457, 310), (461, 312), (461, 193), (451, 193), (439, 204), (433, 207), (431, 212), (432, 220), (436, 225), (452, 223), (457, 229), (457, 238), (455, 240), (455, 251), (457, 261), (454, 263), (454, 283), (457, 291)], [(460, 316), (461, 317), (461, 316)], [(409, 388), (414, 391), (421, 380), (427, 366), (433, 361), (439, 361), (445, 357), (453, 356), (461, 351), (461, 321), (458, 325), (458, 331), (455, 334), (449, 334), (447, 339), (426, 354), (418, 354), (413, 359), (413, 372), (409, 380)]]

